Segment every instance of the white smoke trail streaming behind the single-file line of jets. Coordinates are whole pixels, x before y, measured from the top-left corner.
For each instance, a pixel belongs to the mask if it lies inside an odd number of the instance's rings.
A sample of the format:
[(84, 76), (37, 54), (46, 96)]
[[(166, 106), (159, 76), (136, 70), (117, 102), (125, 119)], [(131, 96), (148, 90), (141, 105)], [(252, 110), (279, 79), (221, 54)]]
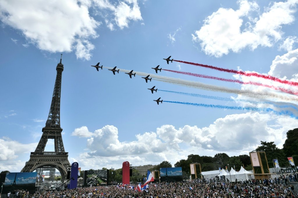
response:
[[(113, 69), (112, 67), (104, 67), (104, 68)], [(129, 73), (131, 70), (119, 69), (119, 71)], [(298, 97), (292, 96), (292, 95), (285, 95), (285, 94), (281, 95), (281, 94), (265, 92), (265, 91), (231, 89), (231, 88), (226, 88), (226, 87), (219, 87), (219, 86), (215, 86), (215, 85), (204, 84), (204, 83), (200, 83), (200, 82), (196, 82), (196, 81), (188, 81), (188, 80), (183, 80), (180, 78), (172, 78), (172, 77), (167, 77), (167, 76), (158, 76), (155, 74), (137, 72), (137, 71), (133, 71), (133, 73), (136, 73), (136, 75), (138, 75), (138, 76), (150, 75), (149, 78), (152, 77), (153, 80), (167, 82), (167, 83), (171, 83), (171, 84), (178, 84), (178, 85), (192, 87), (192, 88), (196, 88), (196, 89), (205, 89), (205, 90), (209, 90), (209, 91), (218, 91), (218, 92), (225, 92), (225, 93), (235, 93), (235, 94), (239, 94), (239, 95), (246, 95), (249, 97), (260, 98), (260, 99), (268, 99), (268, 97), (271, 97), (271, 98), (278, 98), (280, 100), (285, 100), (285, 101), (298, 102)]]

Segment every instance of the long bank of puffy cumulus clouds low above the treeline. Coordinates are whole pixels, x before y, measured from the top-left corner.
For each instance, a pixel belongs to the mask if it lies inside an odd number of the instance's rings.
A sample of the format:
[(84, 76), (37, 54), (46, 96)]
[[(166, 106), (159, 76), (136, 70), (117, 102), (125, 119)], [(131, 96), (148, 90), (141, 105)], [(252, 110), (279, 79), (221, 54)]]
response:
[[(290, 117), (247, 112), (218, 118), (204, 128), (185, 125), (176, 129), (173, 125), (162, 125), (155, 132), (137, 134), (129, 142), (120, 142), (118, 129), (106, 125), (87, 139), (90, 151), (81, 153), (77, 159), (87, 167), (119, 167), (130, 160), (134, 165), (159, 164), (164, 160), (175, 164), (189, 154), (247, 154), (260, 145), (260, 140), (273, 141), (282, 147), (286, 132), (297, 124), (298, 120)], [(84, 130), (88, 131), (85, 127)]]

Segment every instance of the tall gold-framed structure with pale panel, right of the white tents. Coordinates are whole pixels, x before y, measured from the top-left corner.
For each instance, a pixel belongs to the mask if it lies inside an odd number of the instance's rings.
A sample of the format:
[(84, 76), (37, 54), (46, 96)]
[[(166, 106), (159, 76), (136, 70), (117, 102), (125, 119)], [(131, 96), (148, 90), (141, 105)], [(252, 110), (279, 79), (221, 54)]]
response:
[(271, 173), (265, 151), (257, 151), (249, 153), (252, 162), (252, 170), (255, 179), (270, 178)]

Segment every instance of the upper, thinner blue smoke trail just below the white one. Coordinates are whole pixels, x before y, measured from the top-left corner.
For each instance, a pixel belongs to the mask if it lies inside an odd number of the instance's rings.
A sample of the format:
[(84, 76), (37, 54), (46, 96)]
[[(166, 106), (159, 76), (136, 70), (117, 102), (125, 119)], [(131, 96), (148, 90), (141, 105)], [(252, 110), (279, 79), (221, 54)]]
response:
[[(231, 101), (231, 102), (235, 102), (235, 100), (233, 100), (232, 98), (224, 98), (224, 97), (218, 97), (218, 96), (210, 96), (210, 95), (201, 95), (201, 94), (195, 94), (195, 93), (185, 93), (185, 92), (175, 92), (175, 91), (168, 91), (168, 90), (161, 90), (158, 89), (158, 91), (162, 91), (162, 92), (170, 92), (170, 93), (176, 93), (176, 94), (181, 94), (181, 95), (188, 95), (188, 96), (194, 96), (194, 97), (199, 97), (199, 98), (207, 98), (207, 99), (214, 99), (214, 100), (223, 100), (223, 101)], [(293, 108), (298, 110), (297, 107), (293, 106), (293, 105), (277, 105), (273, 102), (255, 102), (252, 100), (243, 100), (243, 99), (239, 99), (238, 101), (241, 102), (249, 102), (249, 103), (254, 103), (254, 104), (258, 104), (258, 103), (263, 103), (263, 104), (271, 104), (275, 107), (278, 108)]]

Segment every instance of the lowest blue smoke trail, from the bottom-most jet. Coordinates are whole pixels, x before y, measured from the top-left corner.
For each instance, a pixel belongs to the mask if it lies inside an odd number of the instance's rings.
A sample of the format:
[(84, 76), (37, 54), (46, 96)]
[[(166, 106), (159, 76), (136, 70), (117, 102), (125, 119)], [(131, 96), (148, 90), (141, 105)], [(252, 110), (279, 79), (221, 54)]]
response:
[(207, 108), (218, 108), (218, 109), (231, 109), (231, 110), (249, 110), (249, 111), (263, 111), (263, 112), (273, 112), (277, 115), (288, 115), (292, 118), (298, 119), (291, 111), (275, 111), (271, 108), (257, 108), (257, 107), (240, 107), (240, 106), (224, 106), (224, 105), (212, 105), (212, 104), (202, 104), (202, 103), (187, 103), (187, 102), (178, 102), (178, 101), (168, 101), (163, 100), (166, 103), (177, 103), (177, 104), (186, 104), (193, 106), (202, 106)]

